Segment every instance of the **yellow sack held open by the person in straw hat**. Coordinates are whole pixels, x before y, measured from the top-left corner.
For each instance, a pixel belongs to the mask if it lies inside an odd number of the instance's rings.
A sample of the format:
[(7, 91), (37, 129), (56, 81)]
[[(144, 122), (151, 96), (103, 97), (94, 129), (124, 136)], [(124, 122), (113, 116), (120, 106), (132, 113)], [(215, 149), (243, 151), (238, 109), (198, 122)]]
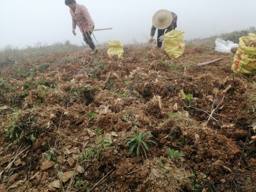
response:
[(172, 30), (164, 35), (164, 51), (169, 57), (180, 57), (185, 50), (183, 40), (185, 31)]

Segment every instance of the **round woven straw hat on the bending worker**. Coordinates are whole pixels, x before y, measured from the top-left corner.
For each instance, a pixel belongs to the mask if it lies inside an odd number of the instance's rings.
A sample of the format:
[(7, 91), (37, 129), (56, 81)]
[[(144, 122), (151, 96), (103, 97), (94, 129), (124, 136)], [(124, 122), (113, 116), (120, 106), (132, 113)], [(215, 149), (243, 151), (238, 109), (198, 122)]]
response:
[(172, 23), (172, 13), (168, 10), (160, 9), (153, 15), (152, 23), (158, 29), (165, 29)]

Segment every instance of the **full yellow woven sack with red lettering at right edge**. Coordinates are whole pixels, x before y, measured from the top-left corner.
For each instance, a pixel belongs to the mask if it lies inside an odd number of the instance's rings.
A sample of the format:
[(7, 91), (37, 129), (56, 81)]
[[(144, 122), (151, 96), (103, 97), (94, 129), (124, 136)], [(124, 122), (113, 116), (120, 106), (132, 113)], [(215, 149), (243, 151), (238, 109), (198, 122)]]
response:
[(239, 38), (239, 46), (231, 67), (234, 73), (256, 75), (256, 47), (247, 47), (246, 42), (256, 41), (256, 35)]

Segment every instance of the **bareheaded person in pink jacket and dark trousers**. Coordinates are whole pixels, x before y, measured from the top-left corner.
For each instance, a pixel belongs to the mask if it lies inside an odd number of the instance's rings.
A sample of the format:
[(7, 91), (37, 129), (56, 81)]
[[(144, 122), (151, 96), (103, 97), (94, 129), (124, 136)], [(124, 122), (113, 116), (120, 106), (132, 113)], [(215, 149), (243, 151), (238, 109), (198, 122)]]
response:
[(70, 8), (70, 14), (72, 17), (72, 32), (76, 36), (76, 25), (83, 33), (85, 43), (92, 49), (91, 54), (97, 52), (95, 45), (92, 41), (92, 29), (94, 29), (94, 22), (84, 5), (76, 3), (76, 0), (65, 0), (65, 4)]

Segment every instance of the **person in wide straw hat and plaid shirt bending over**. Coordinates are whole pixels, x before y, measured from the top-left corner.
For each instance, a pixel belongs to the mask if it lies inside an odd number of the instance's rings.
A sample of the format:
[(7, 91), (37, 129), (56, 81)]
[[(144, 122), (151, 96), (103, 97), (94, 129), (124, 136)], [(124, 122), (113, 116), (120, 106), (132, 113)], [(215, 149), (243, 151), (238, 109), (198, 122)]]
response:
[(178, 16), (174, 12), (170, 12), (165, 9), (158, 10), (152, 18), (152, 27), (150, 31), (149, 43), (152, 43), (153, 37), (157, 30), (157, 47), (162, 47), (162, 42), (164, 41), (164, 34), (172, 31), (177, 27)]

